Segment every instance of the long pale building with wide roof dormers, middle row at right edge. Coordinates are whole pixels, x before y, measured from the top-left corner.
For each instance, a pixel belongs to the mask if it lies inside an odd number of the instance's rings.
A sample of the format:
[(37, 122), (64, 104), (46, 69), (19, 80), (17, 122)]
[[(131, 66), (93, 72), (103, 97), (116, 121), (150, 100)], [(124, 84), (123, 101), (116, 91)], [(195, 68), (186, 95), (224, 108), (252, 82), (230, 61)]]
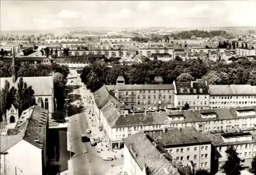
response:
[(232, 128), (240, 130), (255, 126), (256, 106), (170, 111), (168, 119), (171, 127), (194, 126), (201, 133)]

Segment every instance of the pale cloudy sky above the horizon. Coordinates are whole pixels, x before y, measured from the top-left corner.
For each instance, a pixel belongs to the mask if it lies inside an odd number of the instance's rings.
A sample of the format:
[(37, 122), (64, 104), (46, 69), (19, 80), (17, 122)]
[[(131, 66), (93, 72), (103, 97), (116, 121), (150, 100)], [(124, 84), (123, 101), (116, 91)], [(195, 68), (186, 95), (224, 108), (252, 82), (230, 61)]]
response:
[(251, 1), (1, 1), (1, 31), (256, 26)]

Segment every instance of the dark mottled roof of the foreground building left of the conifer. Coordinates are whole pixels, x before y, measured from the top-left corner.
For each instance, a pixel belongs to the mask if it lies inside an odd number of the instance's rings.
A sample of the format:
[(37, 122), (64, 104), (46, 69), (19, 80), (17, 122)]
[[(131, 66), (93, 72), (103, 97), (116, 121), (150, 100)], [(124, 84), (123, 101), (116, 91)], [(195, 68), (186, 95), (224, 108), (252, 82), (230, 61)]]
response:
[(156, 131), (145, 132), (148, 137), (156, 143), (172, 147), (177, 145), (196, 145), (202, 143), (210, 143), (211, 140), (205, 134), (200, 133), (194, 127), (171, 128)]

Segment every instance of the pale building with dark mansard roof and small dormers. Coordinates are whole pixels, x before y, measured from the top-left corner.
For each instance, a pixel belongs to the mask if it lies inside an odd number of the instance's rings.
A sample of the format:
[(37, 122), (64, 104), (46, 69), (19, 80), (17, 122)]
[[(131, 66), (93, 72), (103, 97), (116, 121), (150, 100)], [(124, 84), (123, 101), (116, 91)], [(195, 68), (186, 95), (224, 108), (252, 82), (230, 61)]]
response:
[(187, 103), (194, 110), (209, 108), (209, 90), (207, 82), (173, 82), (174, 106), (184, 107)]

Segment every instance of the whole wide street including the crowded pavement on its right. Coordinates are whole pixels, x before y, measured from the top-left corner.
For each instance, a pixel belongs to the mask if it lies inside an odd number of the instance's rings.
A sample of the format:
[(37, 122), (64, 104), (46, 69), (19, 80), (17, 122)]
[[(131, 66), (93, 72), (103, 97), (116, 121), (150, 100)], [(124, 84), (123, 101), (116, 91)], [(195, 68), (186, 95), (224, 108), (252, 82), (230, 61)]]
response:
[[(80, 78), (74, 78), (73, 84), (80, 84)], [(90, 142), (81, 142), (81, 134), (85, 134), (87, 129), (91, 129), (92, 133), (89, 134), (90, 137), (103, 137), (103, 133), (99, 132), (99, 129), (96, 126), (92, 126), (92, 116), (89, 115), (90, 108), (92, 105), (83, 100), (83, 95), (89, 95), (84, 88), (74, 89), (73, 97), (79, 97), (79, 99), (72, 100), (71, 105), (74, 105), (75, 102), (79, 101), (82, 105), (81, 109), (74, 110), (74, 115), (69, 116), (69, 125), (68, 125), (68, 148), (71, 150), (71, 163), (73, 170), (69, 170), (69, 174), (119, 174), (122, 171), (123, 159), (121, 156), (118, 156), (118, 151), (110, 151), (102, 149), (106, 148), (106, 143), (98, 143), (96, 146), (91, 146)], [(71, 95), (72, 97), (72, 95)], [(97, 152), (97, 148), (102, 151)], [(116, 154), (118, 157), (116, 160), (111, 161), (115, 166), (111, 167), (109, 161), (103, 161), (103, 155), (113, 155)], [(116, 170), (117, 169), (117, 170)], [(70, 173), (71, 172), (71, 173)]]

